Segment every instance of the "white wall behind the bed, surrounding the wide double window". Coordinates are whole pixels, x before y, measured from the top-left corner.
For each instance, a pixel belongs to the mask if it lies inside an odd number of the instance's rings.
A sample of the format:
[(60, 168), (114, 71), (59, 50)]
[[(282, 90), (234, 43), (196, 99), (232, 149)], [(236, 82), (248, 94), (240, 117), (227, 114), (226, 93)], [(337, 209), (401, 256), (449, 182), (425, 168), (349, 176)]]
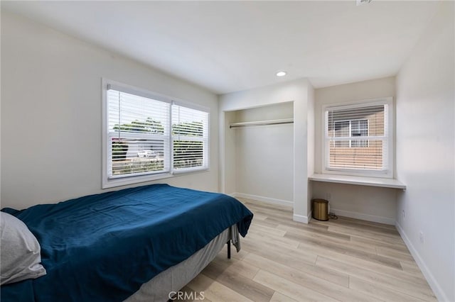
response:
[(156, 182), (218, 191), (215, 94), (2, 11), (1, 206), (102, 192), (102, 77), (208, 106), (210, 172)]

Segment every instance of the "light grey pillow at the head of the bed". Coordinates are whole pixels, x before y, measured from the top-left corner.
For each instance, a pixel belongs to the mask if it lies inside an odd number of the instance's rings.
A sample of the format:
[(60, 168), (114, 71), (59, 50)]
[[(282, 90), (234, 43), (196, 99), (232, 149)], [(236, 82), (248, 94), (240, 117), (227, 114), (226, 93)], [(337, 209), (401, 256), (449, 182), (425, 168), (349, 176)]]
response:
[(40, 244), (25, 223), (0, 212), (0, 240), (1, 285), (45, 275)]

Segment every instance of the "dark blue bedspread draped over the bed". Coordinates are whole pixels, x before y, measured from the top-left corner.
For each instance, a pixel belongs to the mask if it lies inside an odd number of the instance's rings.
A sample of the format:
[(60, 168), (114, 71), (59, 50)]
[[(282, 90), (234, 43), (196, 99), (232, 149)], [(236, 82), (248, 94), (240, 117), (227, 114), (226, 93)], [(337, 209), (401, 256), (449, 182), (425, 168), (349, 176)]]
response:
[(1, 286), (1, 301), (123, 301), (252, 213), (224, 194), (154, 184), (23, 211), (47, 274)]

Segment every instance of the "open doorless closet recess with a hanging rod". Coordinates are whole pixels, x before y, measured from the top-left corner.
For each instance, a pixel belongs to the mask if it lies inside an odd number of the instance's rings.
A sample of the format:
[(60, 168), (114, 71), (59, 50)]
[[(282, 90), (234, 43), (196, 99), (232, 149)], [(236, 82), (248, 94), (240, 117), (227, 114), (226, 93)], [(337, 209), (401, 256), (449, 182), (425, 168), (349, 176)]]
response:
[(225, 111), (225, 192), (294, 206), (294, 102)]

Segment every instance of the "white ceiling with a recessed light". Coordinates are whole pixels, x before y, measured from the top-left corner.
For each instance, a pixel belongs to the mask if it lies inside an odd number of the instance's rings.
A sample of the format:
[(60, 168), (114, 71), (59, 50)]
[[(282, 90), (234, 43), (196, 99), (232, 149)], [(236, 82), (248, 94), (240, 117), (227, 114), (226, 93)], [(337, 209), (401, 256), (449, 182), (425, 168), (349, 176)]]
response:
[[(217, 94), (395, 75), (438, 1), (1, 1)], [(286, 70), (286, 77), (275, 73)]]

